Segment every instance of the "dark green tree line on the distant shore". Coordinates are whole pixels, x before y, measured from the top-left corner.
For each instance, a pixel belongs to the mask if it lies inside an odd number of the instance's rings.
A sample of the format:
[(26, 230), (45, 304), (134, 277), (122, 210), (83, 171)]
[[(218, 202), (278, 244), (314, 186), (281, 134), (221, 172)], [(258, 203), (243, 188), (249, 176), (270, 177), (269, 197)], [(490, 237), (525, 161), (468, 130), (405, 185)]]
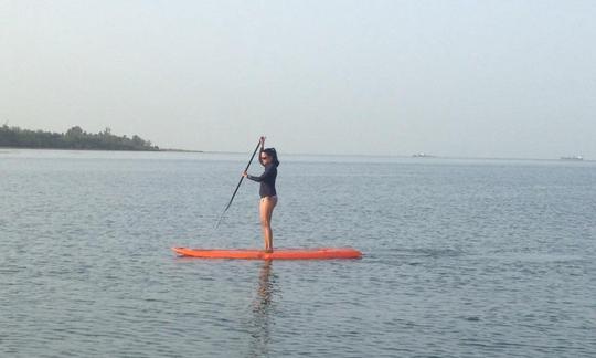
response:
[(19, 127), (0, 127), (0, 147), (95, 150), (159, 150), (151, 141), (135, 135), (131, 138), (115, 136), (109, 128), (97, 134), (86, 133), (79, 126), (66, 133), (29, 130)]

